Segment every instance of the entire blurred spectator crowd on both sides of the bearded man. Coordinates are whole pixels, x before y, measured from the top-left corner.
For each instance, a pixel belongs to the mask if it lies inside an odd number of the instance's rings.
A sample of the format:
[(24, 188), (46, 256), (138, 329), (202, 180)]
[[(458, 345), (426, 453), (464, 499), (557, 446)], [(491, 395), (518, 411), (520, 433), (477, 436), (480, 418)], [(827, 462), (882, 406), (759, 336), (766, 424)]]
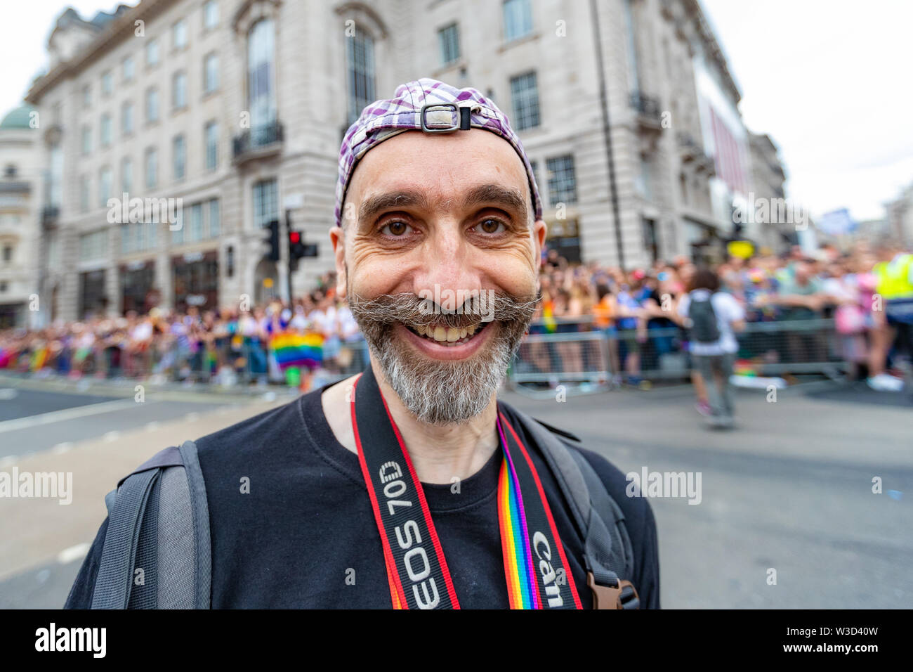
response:
[[(908, 255), (907, 255), (908, 256)], [(833, 317), (839, 352), (854, 374), (866, 374), (874, 389), (896, 390), (892, 369), (898, 345), (911, 329), (887, 324), (880, 305), (879, 264), (906, 259), (895, 243), (860, 241), (849, 251), (824, 246), (813, 253), (792, 248), (784, 255), (733, 256), (711, 269), (719, 292), (729, 294), (746, 322), (801, 321)], [(639, 384), (645, 370), (669, 357), (687, 356), (687, 315), (681, 307), (698, 278), (694, 261), (679, 257), (648, 268), (623, 271), (598, 263), (571, 264), (556, 251), (543, 252), (542, 299), (530, 333), (601, 330), (612, 336), (608, 362), (616, 382)], [(909, 279), (913, 283), (913, 278)], [(219, 310), (152, 308), (145, 315), (89, 316), (36, 331), (0, 332), (0, 369), (36, 375), (158, 377), (226, 383), (284, 379), (270, 342), (279, 333), (317, 335), (319, 368), (332, 375), (360, 370), (364, 347), (358, 325), (326, 273), (311, 293), (291, 303), (226, 305)], [(814, 336), (774, 343), (759, 335), (748, 355), (779, 361), (814, 360), (827, 344)], [(766, 339), (766, 340), (765, 340)], [(543, 373), (585, 371), (595, 354), (585, 342), (524, 345), (521, 357)], [(743, 353), (745, 354), (745, 353)], [(834, 354), (834, 353), (830, 353)], [(687, 368), (694, 368), (693, 362)], [(703, 384), (695, 376), (698, 398)], [(706, 401), (699, 403), (706, 404)]]

